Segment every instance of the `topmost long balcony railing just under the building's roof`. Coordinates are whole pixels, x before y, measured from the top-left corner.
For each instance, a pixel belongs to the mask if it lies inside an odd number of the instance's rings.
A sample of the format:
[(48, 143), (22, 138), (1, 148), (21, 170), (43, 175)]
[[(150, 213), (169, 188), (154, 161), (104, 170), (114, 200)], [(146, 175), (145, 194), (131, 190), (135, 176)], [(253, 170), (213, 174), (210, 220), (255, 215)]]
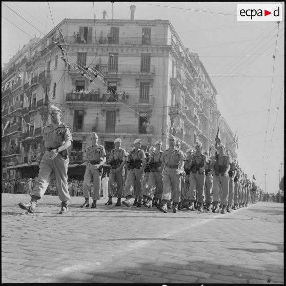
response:
[(167, 38), (142, 38), (142, 37), (118, 37), (117, 39), (112, 39), (107, 36), (100, 37), (85, 37), (86, 43), (81, 43), (80, 40), (77, 41), (73, 36), (65, 37), (67, 44), (75, 44), (75, 45), (147, 45), (147, 46), (162, 46), (167, 45)]

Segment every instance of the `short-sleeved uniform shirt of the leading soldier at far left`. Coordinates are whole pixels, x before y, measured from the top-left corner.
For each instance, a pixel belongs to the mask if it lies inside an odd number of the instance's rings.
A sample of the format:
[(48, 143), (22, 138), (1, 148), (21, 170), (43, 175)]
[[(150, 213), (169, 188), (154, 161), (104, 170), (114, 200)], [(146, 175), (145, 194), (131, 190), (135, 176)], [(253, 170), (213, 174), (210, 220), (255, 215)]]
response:
[(62, 123), (57, 128), (53, 129), (52, 125), (48, 125), (44, 130), (45, 147), (58, 148), (68, 140), (72, 141), (71, 131), (68, 126)]

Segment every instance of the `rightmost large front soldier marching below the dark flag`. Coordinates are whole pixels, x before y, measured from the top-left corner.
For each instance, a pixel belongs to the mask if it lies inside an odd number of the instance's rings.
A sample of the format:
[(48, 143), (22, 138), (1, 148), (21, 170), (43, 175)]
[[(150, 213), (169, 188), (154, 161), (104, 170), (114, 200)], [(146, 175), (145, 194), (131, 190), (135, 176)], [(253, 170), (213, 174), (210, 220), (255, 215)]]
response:
[[(214, 171), (213, 180), (213, 213), (219, 212), (219, 203), (221, 202), (221, 213), (227, 212), (229, 196), (229, 171), (231, 168), (231, 159), (225, 154), (223, 144), (218, 145), (218, 154), (213, 158), (211, 169)], [(219, 188), (222, 189), (222, 196), (219, 194)]]

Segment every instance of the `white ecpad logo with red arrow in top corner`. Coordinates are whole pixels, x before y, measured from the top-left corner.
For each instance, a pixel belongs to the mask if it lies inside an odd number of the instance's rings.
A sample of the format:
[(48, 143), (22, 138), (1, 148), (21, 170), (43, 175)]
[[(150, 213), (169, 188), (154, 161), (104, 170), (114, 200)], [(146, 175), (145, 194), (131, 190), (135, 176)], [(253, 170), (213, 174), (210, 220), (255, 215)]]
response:
[(237, 4), (237, 21), (282, 21), (282, 4)]

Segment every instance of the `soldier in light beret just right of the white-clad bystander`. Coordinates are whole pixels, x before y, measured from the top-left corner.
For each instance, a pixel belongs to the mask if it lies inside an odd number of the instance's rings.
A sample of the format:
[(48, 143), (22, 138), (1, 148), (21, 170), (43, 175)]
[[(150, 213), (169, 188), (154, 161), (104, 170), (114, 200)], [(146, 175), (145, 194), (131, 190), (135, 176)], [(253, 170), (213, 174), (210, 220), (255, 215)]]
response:
[(114, 195), (115, 183), (117, 184), (117, 202), (115, 207), (121, 206), (121, 197), (123, 192), (123, 168), (126, 163), (126, 151), (121, 148), (121, 139), (114, 140), (115, 148), (111, 150), (108, 163), (111, 166), (109, 173), (108, 202), (106, 205), (112, 205), (112, 197)]

